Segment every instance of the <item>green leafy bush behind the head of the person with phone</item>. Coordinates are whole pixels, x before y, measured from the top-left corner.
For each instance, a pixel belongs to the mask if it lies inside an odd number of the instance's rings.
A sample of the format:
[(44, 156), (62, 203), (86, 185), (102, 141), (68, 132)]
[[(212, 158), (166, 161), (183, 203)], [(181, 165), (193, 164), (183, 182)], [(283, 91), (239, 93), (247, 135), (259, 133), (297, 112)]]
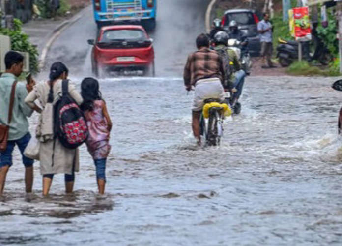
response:
[(37, 48), (28, 41), (28, 35), (22, 32), (22, 22), (18, 19), (14, 19), (13, 24), (13, 30), (0, 28), (0, 33), (11, 38), (12, 50), (28, 52), (30, 71), (32, 73), (37, 73), (39, 71)]

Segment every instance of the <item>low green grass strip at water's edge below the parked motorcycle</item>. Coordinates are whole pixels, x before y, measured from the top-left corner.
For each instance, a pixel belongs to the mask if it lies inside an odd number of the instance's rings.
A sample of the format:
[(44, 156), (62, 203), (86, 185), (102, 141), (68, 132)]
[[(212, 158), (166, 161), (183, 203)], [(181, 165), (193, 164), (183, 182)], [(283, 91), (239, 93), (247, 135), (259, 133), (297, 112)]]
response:
[(318, 66), (312, 66), (307, 61), (293, 62), (286, 70), (290, 75), (295, 76), (339, 76), (339, 61), (336, 59), (328, 68), (321, 69)]

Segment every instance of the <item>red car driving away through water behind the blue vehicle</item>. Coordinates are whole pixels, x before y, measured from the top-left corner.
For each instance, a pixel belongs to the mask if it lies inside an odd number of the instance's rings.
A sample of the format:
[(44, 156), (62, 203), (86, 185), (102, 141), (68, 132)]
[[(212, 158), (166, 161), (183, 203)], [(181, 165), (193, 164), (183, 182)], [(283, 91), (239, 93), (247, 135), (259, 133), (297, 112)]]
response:
[(114, 72), (154, 76), (153, 39), (142, 26), (118, 25), (101, 28), (91, 54), (92, 71), (97, 77)]

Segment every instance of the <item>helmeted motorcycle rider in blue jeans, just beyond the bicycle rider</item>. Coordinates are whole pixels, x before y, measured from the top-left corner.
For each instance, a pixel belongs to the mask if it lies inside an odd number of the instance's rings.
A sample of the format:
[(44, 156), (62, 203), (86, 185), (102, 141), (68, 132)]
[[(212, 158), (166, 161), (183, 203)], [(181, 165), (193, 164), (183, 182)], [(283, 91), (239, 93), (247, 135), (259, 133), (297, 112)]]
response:
[[(227, 52), (230, 62), (233, 65), (233, 71), (229, 74), (229, 80), (232, 82), (233, 95), (231, 97), (231, 105), (234, 108), (234, 112), (240, 111), (241, 104), (238, 103), (238, 99), (242, 93), (243, 85), (245, 83), (246, 72), (241, 69), (239, 58), (237, 57), (235, 51), (227, 47), (229, 35), (225, 31), (219, 31), (214, 36), (215, 50), (224, 50)], [(226, 74), (228, 72), (226, 71)], [(231, 86), (228, 86), (231, 87)]]

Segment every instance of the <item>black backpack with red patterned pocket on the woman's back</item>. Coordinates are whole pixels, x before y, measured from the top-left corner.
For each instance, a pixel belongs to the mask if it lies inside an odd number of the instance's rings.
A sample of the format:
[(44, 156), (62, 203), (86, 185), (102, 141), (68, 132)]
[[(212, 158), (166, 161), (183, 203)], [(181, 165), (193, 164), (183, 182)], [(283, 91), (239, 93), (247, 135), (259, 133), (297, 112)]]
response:
[(54, 135), (68, 149), (76, 149), (88, 137), (85, 116), (69, 95), (68, 80), (62, 81), (62, 95), (54, 107)]

